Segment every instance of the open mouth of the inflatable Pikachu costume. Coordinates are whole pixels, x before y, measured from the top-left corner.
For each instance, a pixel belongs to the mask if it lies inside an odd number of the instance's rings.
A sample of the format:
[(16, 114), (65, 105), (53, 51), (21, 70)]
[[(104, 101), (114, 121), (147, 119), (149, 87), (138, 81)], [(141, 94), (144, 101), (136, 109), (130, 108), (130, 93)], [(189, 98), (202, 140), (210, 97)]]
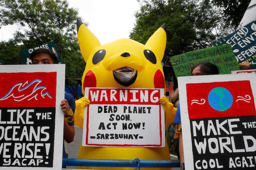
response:
[(128, 87), (135, 82), (137, 74), (137, 70), (132, 69), (131, 67), (121, 67), (113, 71), (116, 82), (125, 87)]

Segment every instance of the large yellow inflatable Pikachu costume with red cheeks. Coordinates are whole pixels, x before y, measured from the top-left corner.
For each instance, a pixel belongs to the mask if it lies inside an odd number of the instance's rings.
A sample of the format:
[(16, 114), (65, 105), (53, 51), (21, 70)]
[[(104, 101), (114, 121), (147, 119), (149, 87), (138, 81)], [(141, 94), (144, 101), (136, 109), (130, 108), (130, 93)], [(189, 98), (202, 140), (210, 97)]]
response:
[[(165, 88), (161, 61), (166, 46), (165, 24), (145, 45), (122, 38), (101, 45), (95, 35), (78, 20), (78, 42), (86, 68), (83, 73), (83, 94), (86, 87), (97, 88)], [(76, 101), (75, 125), (83, 128), (84, 107), (89, 99)], [(174, 120), (176, 108), (163, 96), (160, 103), (165, 110), (165, 128)], [(170, 160), (168, 145), (163, 148), (88, 147), (80, 146), (78, 158)], [(78, 167), (80, 169), (130, 169), (120, 167)], [(170, 169), (170, 168), (142, 168)]]

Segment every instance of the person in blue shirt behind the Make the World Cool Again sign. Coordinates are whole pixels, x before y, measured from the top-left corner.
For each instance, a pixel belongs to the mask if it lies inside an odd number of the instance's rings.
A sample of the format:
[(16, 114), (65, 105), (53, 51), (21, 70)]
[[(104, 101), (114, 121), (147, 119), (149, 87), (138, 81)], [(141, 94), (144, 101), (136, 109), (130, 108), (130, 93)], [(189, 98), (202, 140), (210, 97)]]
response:
[[(191, 68), (191, 76), (199, 76), (199, 75), (218, 75), (219, 69), (216, 65), (203, 62), (201, 64), (194, 65)], [(180, 111), (180, 105), (178, 105), (176, 115), (174, 118), (174, 123), (177, 124), (176, 130), (175, 130), (175, 136), (174, 138), (179, 137), (179, 156), (181, 165), (184, 163), (184, 152), (183, 152), (183, 140), (182, 140), (182, 129), (181, 129), (181, 111)]]

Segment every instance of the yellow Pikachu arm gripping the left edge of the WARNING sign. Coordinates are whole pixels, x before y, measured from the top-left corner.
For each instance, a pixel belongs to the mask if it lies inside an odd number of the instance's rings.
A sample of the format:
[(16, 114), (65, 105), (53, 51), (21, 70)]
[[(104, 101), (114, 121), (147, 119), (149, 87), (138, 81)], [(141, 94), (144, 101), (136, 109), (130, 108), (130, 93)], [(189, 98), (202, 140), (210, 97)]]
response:
[(86, 97), (82, 97), (75, 101), (75, 126), (83, 129), (83, 113), (85, 106), (89, 105), (90, 101)]

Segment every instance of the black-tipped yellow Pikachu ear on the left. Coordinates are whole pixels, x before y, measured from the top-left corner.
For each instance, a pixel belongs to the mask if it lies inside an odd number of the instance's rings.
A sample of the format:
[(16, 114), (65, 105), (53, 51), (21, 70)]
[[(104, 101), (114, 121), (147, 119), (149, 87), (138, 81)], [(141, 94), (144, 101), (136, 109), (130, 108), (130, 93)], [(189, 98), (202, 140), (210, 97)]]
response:
[(101, 46), (97, 37), (77, 19), (77, 40), (84, 61), (87, 60), (95, 47)]

